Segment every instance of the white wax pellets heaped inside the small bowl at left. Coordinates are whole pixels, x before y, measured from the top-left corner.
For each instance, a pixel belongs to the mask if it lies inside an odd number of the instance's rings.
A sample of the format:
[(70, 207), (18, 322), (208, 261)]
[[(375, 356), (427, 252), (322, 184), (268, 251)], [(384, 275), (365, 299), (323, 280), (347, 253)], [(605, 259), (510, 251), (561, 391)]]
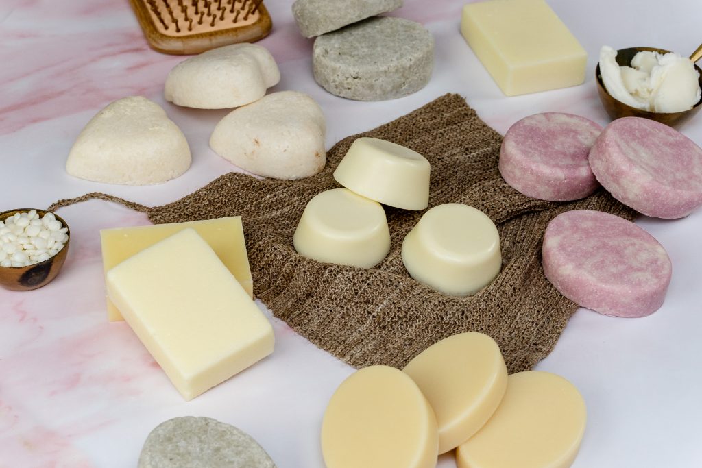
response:
[(26, 267), (56, 255), (68, 241), (68, 228), (53, 213), (37, 210), (0, 220), (0, 266)]

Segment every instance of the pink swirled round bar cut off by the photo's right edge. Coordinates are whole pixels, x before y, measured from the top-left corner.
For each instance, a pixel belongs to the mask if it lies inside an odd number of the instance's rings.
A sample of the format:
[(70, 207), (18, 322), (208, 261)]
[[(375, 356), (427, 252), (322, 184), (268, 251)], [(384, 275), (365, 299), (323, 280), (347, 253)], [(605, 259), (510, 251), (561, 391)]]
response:
[(590, 167), (614, 198), (656, 218), (682, 218), (702, 204), (702, 149), (663, 123), (624, 117), (590, 150)]

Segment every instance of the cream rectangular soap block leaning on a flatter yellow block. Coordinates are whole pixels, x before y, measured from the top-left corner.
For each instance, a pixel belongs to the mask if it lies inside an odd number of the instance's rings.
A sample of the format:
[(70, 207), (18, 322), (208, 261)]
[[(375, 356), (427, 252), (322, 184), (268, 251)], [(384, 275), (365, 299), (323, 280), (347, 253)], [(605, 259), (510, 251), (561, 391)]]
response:
[(107, 293), (186, 400), (273, 352), (270, 323), (194, 229), (110, 269)]

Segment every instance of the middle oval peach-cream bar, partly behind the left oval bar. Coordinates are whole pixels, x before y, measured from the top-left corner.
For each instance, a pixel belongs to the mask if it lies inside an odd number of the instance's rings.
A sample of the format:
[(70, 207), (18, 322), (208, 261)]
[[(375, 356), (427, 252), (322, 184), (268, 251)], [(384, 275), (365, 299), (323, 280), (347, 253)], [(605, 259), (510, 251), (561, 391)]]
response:
[(480, 429), (507, 389), (507, 366), (497, 343), (461, 333), (418, 354), (403, 369), (434, 409), (439, 453), (453, 450)]

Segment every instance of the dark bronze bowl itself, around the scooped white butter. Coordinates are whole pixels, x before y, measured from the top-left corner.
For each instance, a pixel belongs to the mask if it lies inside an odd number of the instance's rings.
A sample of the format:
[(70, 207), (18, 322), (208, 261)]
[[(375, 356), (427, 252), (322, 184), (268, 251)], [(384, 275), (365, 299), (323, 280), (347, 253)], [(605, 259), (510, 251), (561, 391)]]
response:
[[(620, 67), (630, 67), (632, 65), (632, 60), (635, 57), (635, 55), (642, 51), (656, 52), (659, 54), (670, 53), (670, 51), (665, 51), (664, 49), (652, 47), (623, 48), (616, 51), (616, 63)], [(600, 60), (603, 60), (602, 55), (604, 53), (606, 52), (603, 48)], [(694, 62), (694, 56), (691, 58), (691, 60)], [(698, 99), (697, 102), (694, 105), (692, 105), (690, 109), (680, 110), (677, 112), (652, 112), (647, 109), (639, 109), (637, 107), (633, 107), (632, 105), (628, 105), (625, 102), (614, 98), (614, 96), (611, 95), (609, 91), (607, 91), (607, 88), (604, 85), (604, 81), (602, 80), (602, 70), (600, 69), (600, 67), (601, 63), (598, 63), (597, 67), (595, 68), (595, 82), (597, 83), (597, 91), (600, 94), (600, 100), (602, 101), (602, 105), (604, 105), (604, 109), (607, 111), (607, 114), (609, 114), (612, 120), (619, 119), (621, 117), (634, 116), (643, 117), (644, 119), (655, 120), (661, 123), (665, 123), (668, 126), (675, 127), (680, 126), (680, 124), (682, 124), (684, 121), (687, 121), (687, 119), (689, 119), (691, 116), (694, 116), (694, 114), (696, 114), (699, 111), (700, 107), (702, 107), (702, 100), (700, 99)], [(697, 65), (694, 65), (694, 69), (698, 74), (698, 86), (702, 88), (702, 69), (700, 69), (700, 67), (698, 67)], [(628, 69), (627, 72), (630, 72), (630, 76), (623, 75), (623, 79), (635, 80), (637, 78), (636, 70), (631, 71)], [(679, 86), (678, 83), (674, 84), (676, 87)], [(637, 98), (637, 96), (635, 95), (634, 98)]]

